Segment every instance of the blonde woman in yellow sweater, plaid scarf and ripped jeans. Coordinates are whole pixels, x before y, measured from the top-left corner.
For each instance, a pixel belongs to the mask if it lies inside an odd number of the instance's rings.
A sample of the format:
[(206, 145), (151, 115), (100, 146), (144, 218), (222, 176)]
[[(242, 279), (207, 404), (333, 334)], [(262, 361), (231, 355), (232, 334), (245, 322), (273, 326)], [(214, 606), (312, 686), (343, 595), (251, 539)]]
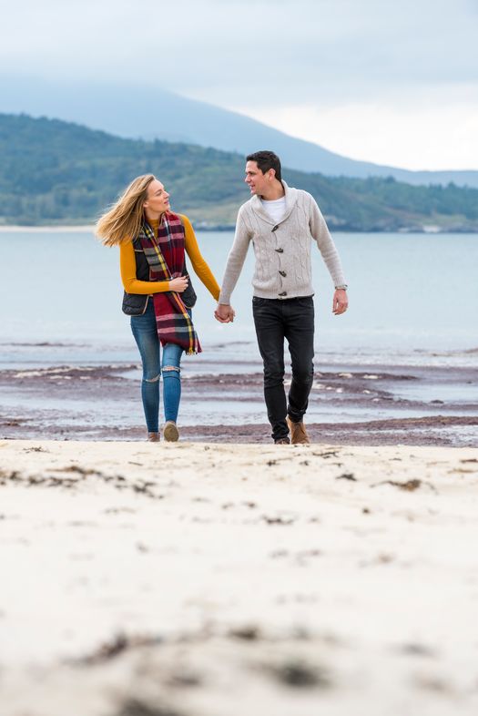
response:
[[(168, 442), (178, 440), (181, 396), (180, 360), (183, 351), (200, 353), (191, 320), (196, 300), (184, 263), (188, 253), (194, 271), (213, 298), (219, 285), (202, 258), (194, 230), (186, 216), (169, 208), (169, 194), (153, 174), (137, 177), (113, 208), (97, 222), (97, 236), (106, 246), (119, 245), (123, 312), (131, 316), (143, 378), (141, 397), (147, 439), (159, 440), (159, 376), (163, 376), (165, 425)], [(160, 347), (163, 348), (160, 362)]]

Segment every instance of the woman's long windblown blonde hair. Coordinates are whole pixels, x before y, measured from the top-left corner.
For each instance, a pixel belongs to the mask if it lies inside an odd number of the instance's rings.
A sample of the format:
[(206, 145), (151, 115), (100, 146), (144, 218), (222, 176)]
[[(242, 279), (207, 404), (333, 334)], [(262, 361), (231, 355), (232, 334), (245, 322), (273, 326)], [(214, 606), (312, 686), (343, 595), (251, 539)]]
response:
[(143, 174), (133, 179), (116, 204), (97, 220), (95, 233), (105, 246), (116, 246), (137, 236), (143, 220), (147, 188), (154, 179), (154, 174)]

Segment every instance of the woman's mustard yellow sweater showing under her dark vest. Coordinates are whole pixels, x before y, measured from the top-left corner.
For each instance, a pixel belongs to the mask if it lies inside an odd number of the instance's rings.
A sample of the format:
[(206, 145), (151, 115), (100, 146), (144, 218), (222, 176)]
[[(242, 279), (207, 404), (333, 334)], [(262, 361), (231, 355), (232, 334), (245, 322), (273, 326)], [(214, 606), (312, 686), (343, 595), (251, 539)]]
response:
[[(219, 299), (219, 284), (214, 278), (208, 264), (201, 256), (198, 247), (198, 240), (192, 228), (191, 222), (184, 214), (178, 214), (184, 224), (185, 233), (185, 249), (191, 260), (192, 267), (199, 279), (204, 283), (208, 292), (216, 301)], [(148, 221), (151, 229), (158, 234), (159, 220)], [(119, 245), (119, 263), (121, 268), (121, 281), (127, 293), (141, 293), (150, 295), (151, 293), (161, 293), (170, 291), (169, 281), (138, 281), (136, 277), (136, 259), (135, 250), (132, 241), (123, 241)]]

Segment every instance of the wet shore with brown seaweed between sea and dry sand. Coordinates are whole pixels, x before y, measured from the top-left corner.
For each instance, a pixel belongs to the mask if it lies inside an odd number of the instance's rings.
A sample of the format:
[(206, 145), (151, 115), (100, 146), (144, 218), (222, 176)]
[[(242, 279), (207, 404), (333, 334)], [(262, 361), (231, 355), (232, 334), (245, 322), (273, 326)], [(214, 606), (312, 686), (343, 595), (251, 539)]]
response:
[[(179, 424), (193, 441), (269, 443), (262, 374), (249, 366), (183, 370)], [(209, 372), (210, 371), (210, 372)], [(137, 440), (145, 435), (136, 363), (0, 371), (0, 436)], [(287, 381), (286, 381), (287, 384)], [(473, 368), (347, 366), (315, 373), (306, 423), (314, 442), (478, 445)]]

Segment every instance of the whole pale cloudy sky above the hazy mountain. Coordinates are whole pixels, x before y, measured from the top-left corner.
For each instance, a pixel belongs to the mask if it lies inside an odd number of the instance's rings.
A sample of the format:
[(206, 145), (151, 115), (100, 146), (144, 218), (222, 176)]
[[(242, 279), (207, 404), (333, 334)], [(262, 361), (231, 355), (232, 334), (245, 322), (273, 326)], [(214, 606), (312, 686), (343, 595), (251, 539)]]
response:
[(132, 82), (353, 159), (478, 169), (478, 0), (0, 0), (14, 76)]

